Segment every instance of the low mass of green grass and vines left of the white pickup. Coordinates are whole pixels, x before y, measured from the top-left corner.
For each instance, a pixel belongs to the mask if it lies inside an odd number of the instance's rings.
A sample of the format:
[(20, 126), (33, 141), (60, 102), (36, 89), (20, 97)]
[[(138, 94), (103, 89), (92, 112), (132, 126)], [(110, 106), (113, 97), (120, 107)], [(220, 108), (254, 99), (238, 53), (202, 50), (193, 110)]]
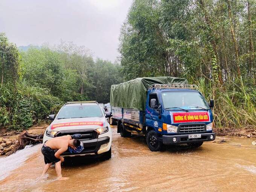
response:
[(63, 102), (49, 90), (18, 81), (15, 86), (0, 86), (0, 127), (24, 130), (56, 113)]

